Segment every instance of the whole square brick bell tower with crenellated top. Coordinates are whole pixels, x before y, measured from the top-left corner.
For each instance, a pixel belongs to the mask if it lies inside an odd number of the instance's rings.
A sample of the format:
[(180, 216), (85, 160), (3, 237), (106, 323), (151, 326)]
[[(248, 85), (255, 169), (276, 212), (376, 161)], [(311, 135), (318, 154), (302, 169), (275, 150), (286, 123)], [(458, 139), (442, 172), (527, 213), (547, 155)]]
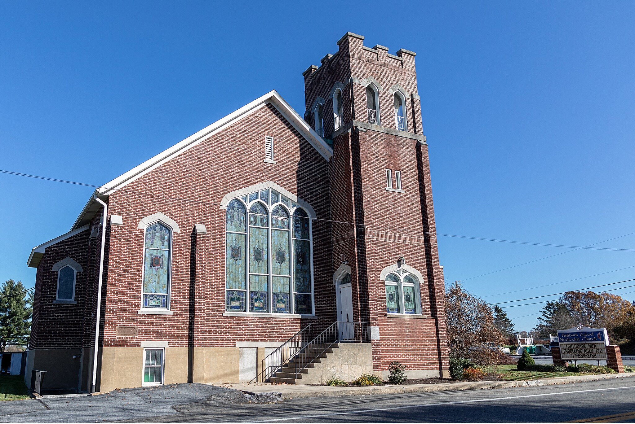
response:
[(409, 378), (447, 376), (445, 288), (416, 55), (363, 41), (347, 32), (337, 53), (303, 74), (305, 121), (333, 147), (338, 321), (370, 323), (376, 372), (387, 374), (399, 361)]

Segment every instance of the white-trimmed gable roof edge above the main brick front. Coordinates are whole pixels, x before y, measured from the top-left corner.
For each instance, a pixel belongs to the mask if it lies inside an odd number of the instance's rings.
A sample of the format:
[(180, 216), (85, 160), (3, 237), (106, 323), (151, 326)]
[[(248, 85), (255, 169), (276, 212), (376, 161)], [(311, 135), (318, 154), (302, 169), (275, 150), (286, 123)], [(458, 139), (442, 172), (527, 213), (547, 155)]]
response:
[(197, 131), (197, 133), (190, 135), (189, 137), (181, 140), (169, 149), (166, 149), (156, 156), (151, 157), (142, 164), (136, 166), (133, 169), (130, 169), (130, 171), (118, 176), (110, 182), (105, 183), (104, 185), (102, 185), (102, 187), (99, 187), (97, 190), (95, 190), (95, 193), (91, 195), (90, 200), (86, 203), (86, 206), (84, 206), (84, 209), (77, 217), (77, 220), (71, 227), (71, 230), (75, 230), (82, 225), (86, 225), (86, 223), (90, 222), (95, 213), (97, 213), (97, 211), (102, 208), (102, 206), (98, 204), (97, 201), (95, 201), (95, 195), (98, 195), (99, 197), (107, 197), (109, 194), (112, 194), (122, 187), (125, 187), (129, 183), (137, 180), (137, 178), (140, 178), (149, 173), (150, 171), (152, 171), (152, 169), (158, 168), (165, 162), (170, 161), (170, 159), (172, 159), (173, 157), (176, 157), (179, 154), (185, 152), (185, 150), (196, 146), (210, 136), (215, 135), (219, 131), (222, 131), (231, 124), (236, 123), (236, 121), (243, 119), (243, 117), (248, 116), (252, 112), (255, 112), (256, 110), (269, 103), (271, 103), (271, 105), (273, 105), (277, 109), (277, 111), (280, 112), (284, 119), (286, 119), (291, 125), (293, 125), (293, 128), (295, 128), (298, 133), (300, 133), (300, 135), (302, 135), (305, 140), (307, 140), (307, 142), (309, 142), (312, 147), (314, 147), (314, 149), (318, 150), (318, 153), (321, 154), (321, 156), (324, 157), (326, 161), (328, 161), (330, 157), (333, 156), (333, 149), (331, 149), (331, 147), (326, 144), (326, 142), (324, 142), (321, 136), (319, 136), (318, 133), (316, 133), (316, 131), (314, 131), (314, 129), (312, 129), (311, 126), (309, 126), (309, 124), (307, 124), (304, 119), (302, 119), (302, 117), (300, 117), (300, 115), (298, 115), (298, 113), (293, 110), (289, 103), (287, 103), (277, 93), (276, 90), (271, 90), (264, 96), (258, 97), (253, 102), (244, 105), (240, 109), (201, 129), (201, 131)]

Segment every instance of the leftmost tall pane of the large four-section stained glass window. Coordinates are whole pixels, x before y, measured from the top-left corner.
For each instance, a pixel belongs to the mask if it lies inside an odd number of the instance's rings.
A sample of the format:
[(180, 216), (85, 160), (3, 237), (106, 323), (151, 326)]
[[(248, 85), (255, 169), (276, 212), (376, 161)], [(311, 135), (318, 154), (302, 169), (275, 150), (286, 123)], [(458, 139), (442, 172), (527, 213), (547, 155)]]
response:
[(234, 199), (227, 205), (227, 234), (225, 235), (225, 287), (226, 308), (244, 312), (246, 294), (246, 208), (243, 202)]

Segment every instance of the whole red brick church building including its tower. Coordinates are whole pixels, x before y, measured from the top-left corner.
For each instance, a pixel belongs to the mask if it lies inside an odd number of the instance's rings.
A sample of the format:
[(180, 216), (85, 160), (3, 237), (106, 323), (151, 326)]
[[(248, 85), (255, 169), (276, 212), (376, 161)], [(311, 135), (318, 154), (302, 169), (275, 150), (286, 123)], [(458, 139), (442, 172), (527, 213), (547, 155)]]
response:
[(304, 72), (95, 190), (32, 249), (27, 385), (447, 376), (415, 53), (347, 33)]

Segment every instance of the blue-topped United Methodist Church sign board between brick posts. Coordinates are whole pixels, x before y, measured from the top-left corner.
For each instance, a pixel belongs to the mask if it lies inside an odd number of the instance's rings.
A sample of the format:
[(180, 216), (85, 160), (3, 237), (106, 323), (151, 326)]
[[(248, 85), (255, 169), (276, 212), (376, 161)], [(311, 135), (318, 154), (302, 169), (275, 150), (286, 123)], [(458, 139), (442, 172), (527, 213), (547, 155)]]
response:
[(577, 327), (558, 330), (561, 359), (606, 359), (606, 328)]

